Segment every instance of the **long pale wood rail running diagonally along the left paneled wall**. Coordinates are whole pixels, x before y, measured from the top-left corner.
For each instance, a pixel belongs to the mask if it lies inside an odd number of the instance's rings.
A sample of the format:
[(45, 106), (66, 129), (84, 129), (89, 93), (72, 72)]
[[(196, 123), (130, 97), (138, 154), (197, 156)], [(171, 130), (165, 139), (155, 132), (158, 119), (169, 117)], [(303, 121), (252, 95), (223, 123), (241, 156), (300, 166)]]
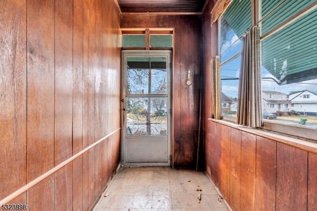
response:
[(109, 133), (108, 135), (106, 135), (105, 137), (101, 138), (100, 140), (98, 140), (97, 142), (95, 142), (94, 144), (86, 147), (84, 150), (82, 150), (81, 152), (77, 153), (76, 155), (66, 159), (65, 161), (59, 163), (58, 165), (56, 165), (55, 167), (53, 167), (51, 170), (45, 172), (44, 174), (40, 175), (39, 177), (37, 177), (36, 179), (32, 180), (31, 182), (27, 183), (26, 185), (24, 185), (23, 187), (19, 188), (18, 190), (16, 190), (15, 192), (13, 192), (12, 194), (10, 194), (9, 196), (5, 197), (4, 199), (2, 199), (0, 201), (0, 205), (4, 205), (8, 202), (10, 202), (12, 199), (14, 199), (15, 197), (19, 196), (20, 194), (24, 193), (25, 191), (27, 191), (28, 189), (32, 188), (33, 186), (35, 186), (36, 184), (38, 184), (39, 182), (41, 182), (42, 180), (44, 180), (45, 178), (49, 177), (51, 174), (53, 174), (54, 172), (56, 172), (58, 169), (62, 168), (63, 166), (65, 166), (66, 164), (68, 164), (69, 162), (73, 161), (75, 158), (78, 158), (79, 156), (83, 155), (85, 152), (87, 152), (88, 150), (92, 149), (93, 147), (95, 147), (96, 145), (100, 144), (101, 142), (105, 141), (107, 138), (109, 138), (110, 136), (112, 136), (113, 134), (115, 134), (116, 132), (118, 132), (119, 130), (121, 130), (121, 128), (117, 128), (116, 130), (114, 130), (113, 132)]

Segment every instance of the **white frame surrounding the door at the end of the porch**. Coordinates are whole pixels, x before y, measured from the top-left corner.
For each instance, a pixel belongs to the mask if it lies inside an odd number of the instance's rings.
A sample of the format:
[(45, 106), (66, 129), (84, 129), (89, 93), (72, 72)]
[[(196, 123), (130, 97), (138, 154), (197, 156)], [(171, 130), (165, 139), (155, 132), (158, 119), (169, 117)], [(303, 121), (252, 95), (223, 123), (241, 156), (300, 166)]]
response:
[[(127, 142), (126, 142), (126, 112), (124, 108), (126, 108), (126, 66), (125, 57), (127, 56), (167, 56), (167, 162), (140, 162), (140, 163), (127, 163), (126, 162), (126, 150), (127, 150)], [(172, 165), (172, 98), (171, 98), (171, 87), (172, 87), (172, 51), (171, 50), (122, 50), (121, 51), (121, 165), (123, 166), (171, 166)]]

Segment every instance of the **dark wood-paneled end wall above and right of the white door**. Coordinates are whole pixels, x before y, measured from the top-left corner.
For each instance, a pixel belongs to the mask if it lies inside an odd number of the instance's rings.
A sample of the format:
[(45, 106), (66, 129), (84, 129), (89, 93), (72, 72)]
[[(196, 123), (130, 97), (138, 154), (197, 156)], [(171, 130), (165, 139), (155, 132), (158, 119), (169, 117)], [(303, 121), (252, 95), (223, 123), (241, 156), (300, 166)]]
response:
[[(201, 18), (196, 15), (121, 15), (122, 28), (174, 28), (172, 164), (195, 167), (201, 76)], [(190, 69), (192, 85), (186, 85)]]

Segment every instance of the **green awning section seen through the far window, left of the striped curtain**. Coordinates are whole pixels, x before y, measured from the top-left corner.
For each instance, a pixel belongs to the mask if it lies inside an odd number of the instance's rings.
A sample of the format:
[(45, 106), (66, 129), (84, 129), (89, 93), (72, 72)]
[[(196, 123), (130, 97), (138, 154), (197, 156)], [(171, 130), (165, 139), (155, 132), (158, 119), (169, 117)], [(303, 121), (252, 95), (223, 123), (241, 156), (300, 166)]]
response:
[(221, 18), (240, 37), (251, 28), (251, 0), (232, 0)]

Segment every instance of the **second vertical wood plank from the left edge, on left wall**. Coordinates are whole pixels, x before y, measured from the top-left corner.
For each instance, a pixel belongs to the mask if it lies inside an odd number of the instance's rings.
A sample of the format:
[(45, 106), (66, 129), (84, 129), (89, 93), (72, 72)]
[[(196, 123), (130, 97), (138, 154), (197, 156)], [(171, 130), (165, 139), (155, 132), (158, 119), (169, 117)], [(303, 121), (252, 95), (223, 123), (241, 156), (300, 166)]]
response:
[[(27, 182), (54, 167), (54, 0), (27, 1)], [(53, 175), (27, 192), (29, 210), (53, 210)]]

